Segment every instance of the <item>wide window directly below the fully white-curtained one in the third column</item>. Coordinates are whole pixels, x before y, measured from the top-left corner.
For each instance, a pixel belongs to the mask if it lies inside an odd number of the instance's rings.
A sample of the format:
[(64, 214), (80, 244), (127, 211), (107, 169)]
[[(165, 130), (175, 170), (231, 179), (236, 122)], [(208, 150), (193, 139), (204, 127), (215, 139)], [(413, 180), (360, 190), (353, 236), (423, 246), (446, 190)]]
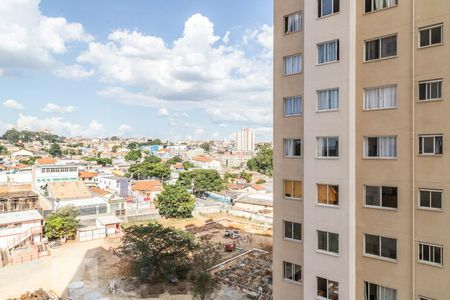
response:
[(395, 136), (364, 138), (364, 156), (368, 158), (397, 157), (397, 138)]

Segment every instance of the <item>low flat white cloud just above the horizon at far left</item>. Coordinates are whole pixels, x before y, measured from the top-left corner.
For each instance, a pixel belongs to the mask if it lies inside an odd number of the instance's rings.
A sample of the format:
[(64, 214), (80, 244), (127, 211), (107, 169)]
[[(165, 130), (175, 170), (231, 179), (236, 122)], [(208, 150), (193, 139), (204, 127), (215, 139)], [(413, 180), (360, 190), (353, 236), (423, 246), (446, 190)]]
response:
[(24, 114), (19, 114), (16, 123), (11, 124), (10, 127), (19, 130), (48, 130), (63, 136), (98, 137), (105, 134), (104, 126), (95, 120), (91, 121), (88, 126), (82, 126), (66, 121), (61, 117), (41, 119), (36, 116)]

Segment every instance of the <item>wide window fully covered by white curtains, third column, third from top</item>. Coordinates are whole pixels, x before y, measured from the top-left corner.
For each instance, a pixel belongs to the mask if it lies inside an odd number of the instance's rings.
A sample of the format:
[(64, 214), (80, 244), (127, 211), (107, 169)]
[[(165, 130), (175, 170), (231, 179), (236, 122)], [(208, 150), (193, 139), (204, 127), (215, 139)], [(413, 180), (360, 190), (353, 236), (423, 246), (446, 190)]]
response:
[(397, 86), (364, 89), (364, 109), (397, 107)]

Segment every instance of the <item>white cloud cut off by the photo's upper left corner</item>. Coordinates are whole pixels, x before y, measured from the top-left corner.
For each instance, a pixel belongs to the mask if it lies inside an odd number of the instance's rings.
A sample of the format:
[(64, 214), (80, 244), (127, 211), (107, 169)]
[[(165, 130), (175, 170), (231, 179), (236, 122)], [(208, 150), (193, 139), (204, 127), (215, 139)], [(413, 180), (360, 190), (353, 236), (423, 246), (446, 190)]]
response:
[(42, 14), (40, 0), (1, 0), (0, 66), (5, 70), (51, 68), (72, 42), (93, 38), (80, 23)]

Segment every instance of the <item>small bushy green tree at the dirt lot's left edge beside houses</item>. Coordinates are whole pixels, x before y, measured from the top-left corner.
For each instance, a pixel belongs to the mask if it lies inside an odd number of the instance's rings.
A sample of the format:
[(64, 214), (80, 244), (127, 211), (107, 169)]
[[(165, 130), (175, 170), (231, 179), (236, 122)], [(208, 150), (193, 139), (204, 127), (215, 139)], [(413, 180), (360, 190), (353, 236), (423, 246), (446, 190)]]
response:
[(74, 239), (80, 223), (78, 210), (73, 206), (65, 206), (47, 216), (44, 233), (49, 239)]

